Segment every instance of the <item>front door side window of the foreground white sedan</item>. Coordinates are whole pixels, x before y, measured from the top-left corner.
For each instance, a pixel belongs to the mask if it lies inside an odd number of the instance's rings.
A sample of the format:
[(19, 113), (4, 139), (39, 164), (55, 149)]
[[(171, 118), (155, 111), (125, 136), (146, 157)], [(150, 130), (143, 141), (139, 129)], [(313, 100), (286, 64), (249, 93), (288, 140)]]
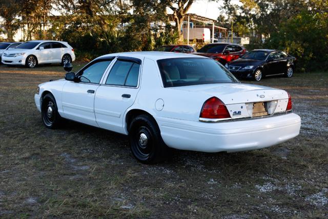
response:
[(79, 72), (81, 82), (99, 84), (105, 70), (111, 63), (111, 60), (99, 61)]

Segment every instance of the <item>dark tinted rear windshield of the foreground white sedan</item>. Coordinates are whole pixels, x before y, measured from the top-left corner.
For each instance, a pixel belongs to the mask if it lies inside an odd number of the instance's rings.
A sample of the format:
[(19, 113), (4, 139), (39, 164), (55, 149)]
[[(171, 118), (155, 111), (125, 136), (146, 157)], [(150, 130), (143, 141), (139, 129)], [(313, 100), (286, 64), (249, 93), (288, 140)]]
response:
[(163, 85), (239, 83), (222, 65), (211, 58), (168, 58), (157, 61)]

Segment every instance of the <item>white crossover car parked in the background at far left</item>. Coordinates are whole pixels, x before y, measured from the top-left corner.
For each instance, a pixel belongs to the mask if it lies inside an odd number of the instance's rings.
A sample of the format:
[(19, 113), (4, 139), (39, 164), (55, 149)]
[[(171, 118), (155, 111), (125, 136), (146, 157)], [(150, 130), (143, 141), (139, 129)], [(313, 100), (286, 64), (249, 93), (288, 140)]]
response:
[(25, 65), (34, 68), (38, 64), (71, 63), (75, 60), (74, 49), (61, 41), (28, 41), (2, 55), (6, 65)]

